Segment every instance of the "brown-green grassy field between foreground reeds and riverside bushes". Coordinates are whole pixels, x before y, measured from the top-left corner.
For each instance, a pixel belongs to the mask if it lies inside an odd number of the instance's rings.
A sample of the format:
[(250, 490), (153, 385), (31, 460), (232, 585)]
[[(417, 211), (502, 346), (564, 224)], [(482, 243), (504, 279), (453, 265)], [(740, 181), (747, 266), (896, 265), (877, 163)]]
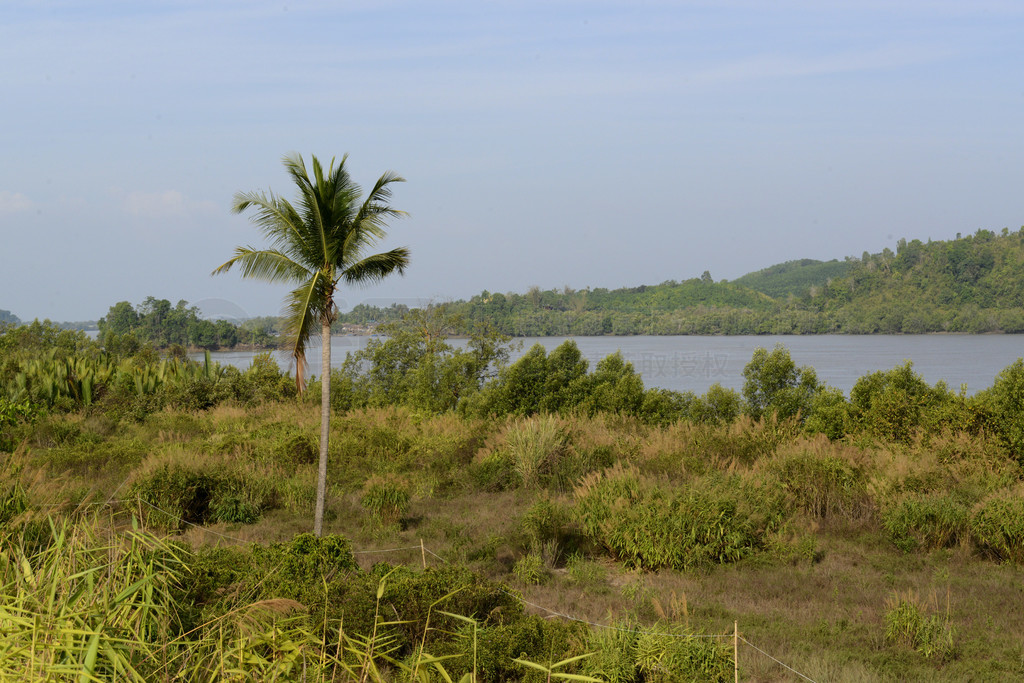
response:
[[(550, 664), (588, 652), (597, 654), (563, 671), (601, 680), (701, 680), (670, 663), (703, 657), (722, 665), (700, 670), (712, 672), (708, 680), (731, 680), (734, 623), (748, 681), (804, 680), (752, 645), (815, 681), (1024, 678), (1021, 471), (984, 435), (829, 441), (771, 418), (652, 426), (612, 415), (494, 420), (351, 411), (332, 423), (326, 533), (355, 551), (348, 585), (373, 586), (369, 598), (345, 593), (335, 613), (332, 601), (341, 598), (326, 580), (313, 595), (311, 574), (296, 574), (310, 586), (274, 585), (273, 574), (253, 568), (284, 563), (288, 544), (310, 527), (318, 419), (316, 407), (283, 400), (164, 409), (141, 420), (81, 411), (17, 426), (16, 445), (0, 455), (8, 594), (27, 581), (14, 575), (13, 558), (22, 552), (35, 565), (53, 547), (39, 540), (49, 538), (40, 531), (45, 519), (73, 520), (71, 528), (91, 529), (93, 543), (111, 544), (123, 543), (134, 523), (155, 535), (153, 543), (179, 548), (187, 567), (168, 588), (168, 600), (178, 601), (164, 607), (173, 620), (157, 620), (143, 634), (190, 643), (178, 664), (153, 670), (167, 680), (189, 671), (208, 680), (234, 676), (224, 654), (230, 648), (202, 661), (201, 654), (214, 652), (218, 637), (242, 647), (241, 632), (224, 635), (224, 615), (257, 603), (305, 615), (290, 637), (298, 642), (308, 630), (311, 640), (299, 650), (313, 659), (319, 643), (324, 680), (329, 670), (369, 676), (359, 656), (376, 652), (366, 641), (375, 624), (373, 589), (401, 564), (413, 568), (396, 574), (404, 577), (402, 590), (422, 599), (458, 590), (460, 581), (484, 582), (480, 596), (517, 605), (494, 609), (521, 610), (496, 621), (482, 611), (483, 597), (466, 598), (461, 611), (451, 606), (476, 620), (481, 652), (505, 657), (489, 669), (479, 665), (479, 680), (543, 680), (511, 659)], [(431, 568), (424, 571), (424, 563)], [(441, 575), (447, 584), (416, 583)], [(378, 622), (418, 624), (394, 636), (398, 664), (375, 659), (379, 680), (429, 678), (409, 669), (409, 657), (426, 651), (416, 648), (417, 638), (422, 643), (430, 633), (433, 642), (436, 635), (423, 621), (430, 612), (410, 600), (385, 591), (376, 602), (387, 603)], [(356, 604), (370, 612), (355, 618)], [(313, 605), (322, 607), (318, 616)], [(325, 626), (342, 614), (356, 639), (347, 649)], [(219, 636), (202, 628), (181, 635), (210, 623), (221, 625)], [(452, 622), (451, 632), (465, 636), (457, 626)], [(536, 632), (529, 638), (528, 629)], [(708, 641), (720, 650), (681, 654), (671, 638), (650, 635), (669, 632), (723, 637)], [(476, 636), (461, 645), (436, 637), (435, 650), (459, 654), (441, 668), (454, 677), (474, 670)], [(89, 642), (82, 642), (84, 657)], [(246, 647), (268, 656), (265, 643)], [(331, 647), (334, 669), (325, 658)], [(13, 661), (10, 651), (0, 656)], [(211, 657), (220, 657), (220, 669)], [(37, 652), (35, 664), (42, 667), (42, 658)], [(245, 670), (243, 660), (231, 666)], [(274, 675), (299, 680), (297, 671)], [(436, 667), (432, 676), (443, 680)]]

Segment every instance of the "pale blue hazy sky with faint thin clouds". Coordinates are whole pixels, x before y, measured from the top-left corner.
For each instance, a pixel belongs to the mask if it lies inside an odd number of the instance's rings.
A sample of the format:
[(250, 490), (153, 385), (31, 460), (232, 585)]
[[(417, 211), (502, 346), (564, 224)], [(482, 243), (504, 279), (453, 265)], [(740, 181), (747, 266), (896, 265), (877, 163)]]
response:
[(1024, 224), (1016, 0), (4, 0), (0, 309), (184, 299), (264, 246), (238, 191), (407, 182), (338, 303), (716, 280)]

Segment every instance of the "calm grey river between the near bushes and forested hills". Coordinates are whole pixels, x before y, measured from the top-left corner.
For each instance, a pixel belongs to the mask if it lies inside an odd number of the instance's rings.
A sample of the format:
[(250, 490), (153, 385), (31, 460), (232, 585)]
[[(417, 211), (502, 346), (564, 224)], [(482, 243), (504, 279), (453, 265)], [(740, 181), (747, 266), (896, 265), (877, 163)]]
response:
[[(331, 340), (332, 366), (340, 366), (345, 354), (366, 346), (370, 337), (335, 336)], [(739, 390), (743, 367), (755, 349), (781, 344), (798, 366), (810, 366), (818, 379), (849, 394), (854, 382), (876, 370), (889, 370), (904, 360), (930, 384), (940, 380), (951, 388), (967, 386), (975, 393), (992, 385), (995, 375), (1024, 356), (1024, 335), (821, 335), (737, 337), (526, 337), (513, 358), (534, 344), (549, 351), (573, 339), (590, 361), (591, 370), (603, 357), (621, 350), (633, 364), (647, 387), (703, 393), (715, 383)], [(462, 346), (465, 340), (453, 340)], [(248, 368), (253, 351), (215, 351), (221, 364)], [(193, 354), (202, 358), (203, 354)], [(282, 368), (294, 370), (291, 358), (276, 352)], [(319, 375), (321, 347), (307, 352), (309, 372)]]

